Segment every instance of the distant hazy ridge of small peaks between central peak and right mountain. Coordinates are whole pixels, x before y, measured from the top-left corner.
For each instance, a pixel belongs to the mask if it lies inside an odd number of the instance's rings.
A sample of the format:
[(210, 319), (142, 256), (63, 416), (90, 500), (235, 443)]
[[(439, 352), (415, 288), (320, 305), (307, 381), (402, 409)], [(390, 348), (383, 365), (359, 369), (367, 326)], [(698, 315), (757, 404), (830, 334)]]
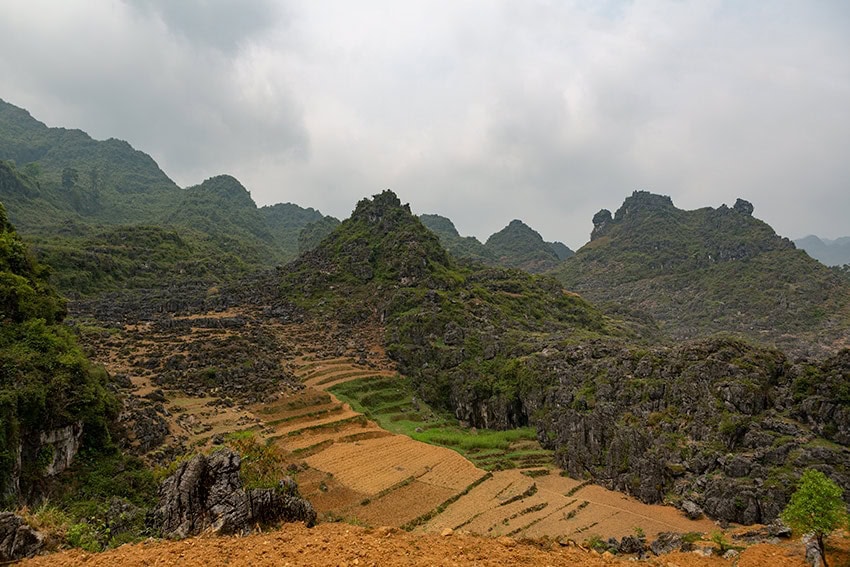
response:
[(460, 236), (452, 221), (446, 217), (420, 215), (419, 219), (440, 238), (446, 250), (460, 259), (541, 273), (573, 255), (573, 251), (565, 244), (544, 242), (540, 234), (519, 220), (512, 221), (490, 236), (486, 244), (481, 244), (473, 236)]

